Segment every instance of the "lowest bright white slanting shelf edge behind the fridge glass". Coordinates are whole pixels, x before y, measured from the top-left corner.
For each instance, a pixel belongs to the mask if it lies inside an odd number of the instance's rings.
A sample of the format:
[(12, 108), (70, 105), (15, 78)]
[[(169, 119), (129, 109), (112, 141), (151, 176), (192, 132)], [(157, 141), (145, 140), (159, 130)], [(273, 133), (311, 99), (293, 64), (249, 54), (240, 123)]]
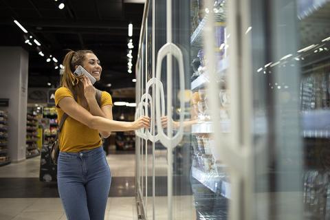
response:
[(192, 177), (197, 179), (201, 184), (212, 190), (212, 192), (221, 192), (223, 197), (230, 199), (230, 184), (225, 181), (225, 177), (214, 175), (213, 173), (204, 173), (192, 166)]

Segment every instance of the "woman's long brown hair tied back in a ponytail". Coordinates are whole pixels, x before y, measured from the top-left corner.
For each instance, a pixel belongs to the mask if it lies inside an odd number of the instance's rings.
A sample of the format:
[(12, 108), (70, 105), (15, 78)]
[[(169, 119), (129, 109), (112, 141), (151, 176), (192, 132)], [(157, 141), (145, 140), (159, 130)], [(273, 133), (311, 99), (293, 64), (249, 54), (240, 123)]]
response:
[(94, 54), (91, 50), (70, 50), (63, 60), (63, 74), (61, 76), (61, 87), (67, 87), (72, 92), (77, 94), (76, 85), (79, 83), (79, 78), (74, 76), (76, 65), (83, 65), (86, 54)]

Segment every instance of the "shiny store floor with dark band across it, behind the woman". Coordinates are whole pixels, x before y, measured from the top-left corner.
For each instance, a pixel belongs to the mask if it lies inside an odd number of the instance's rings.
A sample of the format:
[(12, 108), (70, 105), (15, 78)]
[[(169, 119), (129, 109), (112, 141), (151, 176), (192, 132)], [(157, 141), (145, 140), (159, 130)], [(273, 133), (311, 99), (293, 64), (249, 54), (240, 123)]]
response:
[[(112, 182), (105, 219), (137, 219), (135, 155), (108, 155)], [(39, 181), (40, 157), (0, 167), (1, 220), (66, 219), (56, 184)]]

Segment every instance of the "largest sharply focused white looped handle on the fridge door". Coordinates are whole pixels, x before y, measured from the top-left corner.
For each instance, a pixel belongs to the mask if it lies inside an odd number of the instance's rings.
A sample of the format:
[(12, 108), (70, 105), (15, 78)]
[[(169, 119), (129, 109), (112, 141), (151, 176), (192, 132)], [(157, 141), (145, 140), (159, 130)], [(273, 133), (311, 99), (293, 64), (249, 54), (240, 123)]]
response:
[[(180, 86), (180, 122), (179, 122), (179, 129), (177, 131), (177, 134), (173, 137), (168, 137), (163, 129), (159, 129), (159, 140), (162, 142), (162, 144), (166, 148), (175, 148), (177, 144), (182, 140), (182, 137), (184, 135), (184, 58), (182, 56), (182, 52), (177, 47), (177, 45), (173, 43), (166, 43), (158, 52), (157, 56), (157, 65), (156, 65), (156, 78), (157, 80), (160, 80), (162, 76), (162, 61), (164, 57), (167, 54), (173, 55), (177, 62), (179, 63), (179, 86)], [(168, 82), (171, 83), (171, 82)], [(172, 93), (172, 87), (170, 86), (170, 89), (168, 89), (167, 93)], [(160, 112), (160, 101), (159, 101), (159, 89), (156, 89), (156, 112)], [(167, 104), (170, 104), (172, 100), (167, 100)], [(170, 118), (172, 118), (172, 115), (168, 115)], [(162, 122), (161, 122), (161, 116), (160, 114), (156, 114), (156, 122), (157, 127), (162, 128)], [(168, 121), (169, 123), (173, 123), (172, 120)]]

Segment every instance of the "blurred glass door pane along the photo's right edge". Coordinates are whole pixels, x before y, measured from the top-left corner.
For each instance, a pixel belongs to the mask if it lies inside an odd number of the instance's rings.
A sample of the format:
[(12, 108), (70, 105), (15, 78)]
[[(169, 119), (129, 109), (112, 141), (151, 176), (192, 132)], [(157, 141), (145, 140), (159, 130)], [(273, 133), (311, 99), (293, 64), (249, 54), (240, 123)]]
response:
[(304, 214), (306, 219), (329, 219), (330, 2), (297, 0), (297, 4)]

